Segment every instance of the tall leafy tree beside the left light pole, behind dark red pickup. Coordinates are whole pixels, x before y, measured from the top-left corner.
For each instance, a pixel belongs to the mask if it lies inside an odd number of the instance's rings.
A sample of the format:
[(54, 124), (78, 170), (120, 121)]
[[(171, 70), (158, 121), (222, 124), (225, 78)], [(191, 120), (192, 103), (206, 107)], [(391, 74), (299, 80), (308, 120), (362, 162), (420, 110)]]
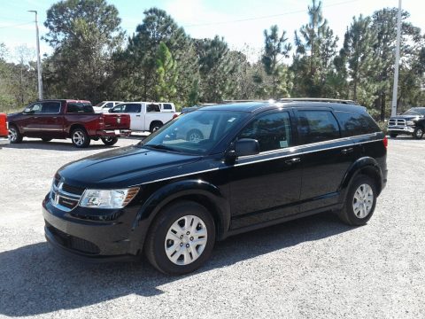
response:
[(47, 11), (44, 40), (54, 49), (46, 59), (47, 96), (103, 99), (112, 75), (112, 54), (124, 33), (118, 10), (104, 0), (63, 0)]

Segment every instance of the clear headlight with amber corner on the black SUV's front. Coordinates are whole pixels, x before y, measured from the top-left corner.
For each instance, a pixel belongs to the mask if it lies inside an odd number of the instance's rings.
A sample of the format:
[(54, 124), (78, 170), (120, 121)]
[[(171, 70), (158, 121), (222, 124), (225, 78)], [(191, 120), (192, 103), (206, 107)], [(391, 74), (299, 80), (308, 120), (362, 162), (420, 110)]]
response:
[(122, 190), (86, 190), (82, 194), (80, 206), (107, 209), (122, 208), (135, 198), (138, 191), (138, 187)]

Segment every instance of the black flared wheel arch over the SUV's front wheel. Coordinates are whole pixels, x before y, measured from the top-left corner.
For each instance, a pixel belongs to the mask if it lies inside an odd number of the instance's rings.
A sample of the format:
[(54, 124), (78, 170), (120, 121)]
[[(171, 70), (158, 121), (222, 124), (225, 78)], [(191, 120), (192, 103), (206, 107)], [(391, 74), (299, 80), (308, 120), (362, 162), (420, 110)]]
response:
[(218, 223), (218, 239), (222, 238), (227, 232), (230, 225), (230, 208), (228, 200), (226, 200), (219, 188), (212, 183), (202, 180), (185, 180), (166, 184), (159, 188), (147, 198), (143, 206), (139, 209), (133, 223), (132, 232), (140, 236), (140, 247), (143, 246), (144, 237), (146, 236), (151, 222), (161, 211), (163, 207), (178, 198), (197, 198), (201, 200), (200, 204), (211, 207), (215, 221)]

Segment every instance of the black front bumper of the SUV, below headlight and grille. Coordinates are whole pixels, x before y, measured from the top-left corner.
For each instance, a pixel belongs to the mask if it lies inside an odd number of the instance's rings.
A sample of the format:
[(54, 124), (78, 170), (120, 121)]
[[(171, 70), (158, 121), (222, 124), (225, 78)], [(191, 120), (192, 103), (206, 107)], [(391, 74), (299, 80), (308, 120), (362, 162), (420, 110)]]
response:
[(49, 196), (42, 202), (45, 237), (61, 253), (91, 261), (136, 258), (140, 242), (132, 224), (137, 209), (123, 209), (121, 217), (114, 221), (82, 219), (74, 212), (78, 213), (78, 209), (65, 212), (52, 206)]

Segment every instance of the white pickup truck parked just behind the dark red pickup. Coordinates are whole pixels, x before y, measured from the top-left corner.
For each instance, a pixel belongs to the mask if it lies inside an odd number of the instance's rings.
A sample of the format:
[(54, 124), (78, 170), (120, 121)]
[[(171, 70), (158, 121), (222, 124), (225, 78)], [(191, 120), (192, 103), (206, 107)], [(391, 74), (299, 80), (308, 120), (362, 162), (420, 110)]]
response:
[(130, 115), (132, 131), (157, 130), (176, 116), (173, 103), (125, 102), (113, 106), (109, 113), (126, 113)]

